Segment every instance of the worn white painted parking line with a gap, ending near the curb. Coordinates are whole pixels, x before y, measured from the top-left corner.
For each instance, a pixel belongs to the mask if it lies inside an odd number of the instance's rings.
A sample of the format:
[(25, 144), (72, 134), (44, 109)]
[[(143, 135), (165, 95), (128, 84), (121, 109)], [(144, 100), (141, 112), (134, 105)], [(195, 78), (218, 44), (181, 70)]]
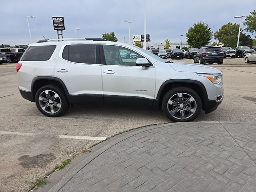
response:
[[(0, 131), (0, 135), (31, 136), (31, 135), (39, 135), (39, 134), (24, 133), (24, 132), (11, 132), (11, 131)], [(58, 138), (63, 138), (63, 139), (98, 140), (98, 141), (106, 140), (106, 137), (89, 137), (89, 136), (72, 136), (72, 135), (58, 135), (57, 137)]]

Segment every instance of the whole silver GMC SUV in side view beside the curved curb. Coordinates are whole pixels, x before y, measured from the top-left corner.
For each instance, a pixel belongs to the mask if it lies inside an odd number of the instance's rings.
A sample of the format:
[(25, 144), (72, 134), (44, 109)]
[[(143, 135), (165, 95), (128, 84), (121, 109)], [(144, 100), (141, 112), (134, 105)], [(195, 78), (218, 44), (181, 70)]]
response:
[(192, 121), (201, 109), (214, 111), (224, 92), (217, 68), (168, 62), (100, 38), (40, 40), (16, 68), (22, 97), (49, 117), (88, 103), (162, 107), (173, 122)]

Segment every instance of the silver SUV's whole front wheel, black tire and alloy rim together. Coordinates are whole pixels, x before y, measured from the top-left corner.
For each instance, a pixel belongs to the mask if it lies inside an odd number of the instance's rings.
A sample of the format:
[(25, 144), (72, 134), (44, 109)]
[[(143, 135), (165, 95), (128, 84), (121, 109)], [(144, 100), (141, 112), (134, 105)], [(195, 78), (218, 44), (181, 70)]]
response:
[(202, 102), (198, 94), (187, 87), (176, 87), (162, 100), (164, 114), (173, 122), (193, 121), (198, 117)]

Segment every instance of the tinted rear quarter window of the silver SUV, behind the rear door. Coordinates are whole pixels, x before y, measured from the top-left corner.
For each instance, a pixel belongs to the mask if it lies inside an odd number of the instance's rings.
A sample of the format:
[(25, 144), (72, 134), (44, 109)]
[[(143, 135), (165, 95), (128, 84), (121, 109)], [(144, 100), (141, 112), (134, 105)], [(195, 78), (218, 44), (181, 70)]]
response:
[(28, 47), (21, 61), (47, 61), (51, 58), (56, 45)]

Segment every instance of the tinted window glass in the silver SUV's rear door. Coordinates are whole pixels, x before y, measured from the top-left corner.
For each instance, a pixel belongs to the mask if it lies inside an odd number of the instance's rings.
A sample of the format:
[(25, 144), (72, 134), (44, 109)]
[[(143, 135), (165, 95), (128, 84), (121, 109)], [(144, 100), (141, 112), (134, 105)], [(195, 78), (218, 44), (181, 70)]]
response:
[(62, 58), (75, 63), (97, 64), (96, 45), (66, 45)]

